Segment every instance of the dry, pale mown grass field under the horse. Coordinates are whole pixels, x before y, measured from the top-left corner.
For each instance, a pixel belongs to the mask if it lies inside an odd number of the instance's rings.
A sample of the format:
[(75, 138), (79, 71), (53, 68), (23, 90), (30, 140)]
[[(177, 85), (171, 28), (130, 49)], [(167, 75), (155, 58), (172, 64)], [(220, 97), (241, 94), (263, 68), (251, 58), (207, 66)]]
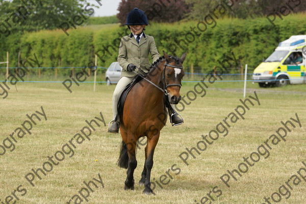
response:
[[(194, 85), (184, 83), (181, 95), (186, 95)], [(264, 197), (271, 197), (274, 192), (281, 195), (279, 203), (306, 203), (306, 179), (304, 181), (301, 176), (300, 182), (298, 179), (295, 184), (290, 181), (292, 189), (287, 186), (290, 194), (285, 188), (281, 188), (283, 195), (279, 193), (279, 187), (286, 185), (285, 182), (297, 174), (303, 166), (302, 161), (306, 162), (305, 85), (260, 89), (257, 84), (248, 83), (246, 96), (254, 97), (253, 91), (256, 91), (260, 106), (256, 102), (250, 106), (244, 120), (231, 123), (226, 137), (220, 134), (205, 151), (199, 151), (200, 155), (193, 150), (196, 158), (189, 155), (188, 166), (180, 159), (179, 155), (186, 148), (196, 147), (197, 142), (202, 140), (201, 135), (215, 130), (218, 123), (241, 105), (242, 87), (243, 82), (215, 83), (206, 89), (204, 97), (198, 95), (185, 107), (181, 113), (184, 124), (171, 127), (167, 122), (155, 151), (151, 181), (160, 181), (167, 171), (171, 177), (167, 176), (164, 180), (169, 181), (168, 184), (159, 182), (160, 186), (156, 185), (156, 195), (147, 196), (142, 194), (143, 186), (138, 186), (144, 164), (144, 147), (140, 146), (137, 152), (135, 190), (125, 191), (126, 171), (116, 166), (121, 136), (107, 133), (103, 122), (99, 122), (100, 127), (93, 125), (95, 131), (91, 133), (91, 140), (85, 139), (82, 144), (75, 145), (73, 156), (72, 152), (64, 155), (65, 159), (53, 165), (52, 170), (45, 172), (46, 175), (38, 172), (41, 180), (35, 176), (33, 187), (25, 175), (33, 173), (32, 168), (42, 168), (49, 161), (47, 156), (54, 156), (75, 134), (81, 133), (80, 130), (87, 125), (85, 120), (100, 117), (100, 112), (106, 123), (112, 119), (111, 98), (115, 86), (98, 85), (93, 92), (92, 84), (81, 84), (80, 87), (74, 86), (70, 94), (61, 83), (17, 83), (18, 92), (11, 86), (8, 97), (1, 99), (0, 145), (3, 146), (3, 141), (28, 119), (26, 114), (42, 112), (41, 106), (47, 120), (41, 115), (41, 121), (34, 118), (37, 124), (33, 125), (32, 134), (16, 137), (15, 149), (6, 149), (5, 154), (0, 156), (0, 199), (7, 199), (7, 203), (67, 203), (75, 195), (70, 202), (74, 203), (74, 199), (81, 196), (79, 191), (85, 187), (83, 182), (93, 181), (93, 178), (98, 180), (99, 174), (104, 187), (97, 182), (98, 188), (91, 185), (94, 192), (90, 191), (89, 203), (260, 204), (268, 203)], [(296, 118), (295, 113), (302, 127), (291, 127), (286, 142), (282, 140), (271, 146), (269, 157), (267, 154), (266, 159), (261, 156), (261, 160), (248, 167), (241, 177), (235, 174), (237, 181), (231, 177), (228, 188), (220, 177), (227, 170), (238, 169), (238, 165), (244, 162), (243, 157), (258, 151), (270, 135), (276, 134), (275, 131), (282, 126), (281, 121)], [(0, 148), (0, 154), (3, 151)], [(49, 166), (45, 168), (49, 169)], [(301, 173), (306, 175), (306, 172)], [(212, 189), (214, 192), (211, 192)], [(82, 192), (86, 193), (84, 189)], [(278, 199), (277, 194), (273, 195), (274, 199)], [(87, 202), (84, 197), (80, 198), (82, 200), (75, 203)]]

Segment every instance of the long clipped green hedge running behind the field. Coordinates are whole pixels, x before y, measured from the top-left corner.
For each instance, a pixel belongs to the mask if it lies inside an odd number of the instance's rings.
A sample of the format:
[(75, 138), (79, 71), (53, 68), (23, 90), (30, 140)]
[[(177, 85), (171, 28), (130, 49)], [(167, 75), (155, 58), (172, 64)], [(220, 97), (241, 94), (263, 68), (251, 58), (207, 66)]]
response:
[[(275, 27), (265, 17), (245, 20), (218, 19), (216, 22), (215, 28), (208, 25), (205, 32), (197, 31), (200, 36), (196, 36), (188, 46), (183, 43), (181, 43), (183, 49), (177, 46), (176, 55), (180, 57), (183, 53), (187, 53), (184, 62), (186, 67), (193, 64), (194, 67), (201, 67), (201, 72), (206, 72), (219, 65), (217, 60), (232, 56), (234, 52), (238, 66), (233, 63), (228, 69), (229, 72), (240, 72), (246, 63), (250, 69), (253, 69), (273, 52), (279, 42), (292, 35), (306, 33), (305, 14), (289, 15), (284, 17), (284, 20), (278, 18), (275, 20)], [(155, 37), (160, 54), (162, 50), (171, 54), (169, 46), (173, 46), (175, 40), (185, 39), (190, 27), (196, 27), (197, 24), (197, 21), (154, 23), (146, 27), (145, 33)], [(22, 36), (11, 34), (7, 38), (1, 38), (0, 61), (6, 60), (8, 50), (10, 66), (17, 66), (20, 50), (22, 60), (33, 58), (35, 53), (40, 66), (43, 67), (59, 65), (80, 67), (94, 62), (94, 53), (105, 46), (109, 47), (110, 54), (106, 53), (103, 60), (98, 59), (98, 66), (108, 67), (117, 59), (119, 41), (115, 39), (119, 37), (118, 32), (125, 30), (126, 27), (119, 27), (119, 24), (106, 24), (99, 25), (98, 28), (90, 26), (71, 29), (68, 31), (69, 36), (66, 36), (62, 30), (25, 33)], [(4, 69), (0, 69), (0, 72), (3, 74)], [(69, 70), (61, 72), (66, 74)]]

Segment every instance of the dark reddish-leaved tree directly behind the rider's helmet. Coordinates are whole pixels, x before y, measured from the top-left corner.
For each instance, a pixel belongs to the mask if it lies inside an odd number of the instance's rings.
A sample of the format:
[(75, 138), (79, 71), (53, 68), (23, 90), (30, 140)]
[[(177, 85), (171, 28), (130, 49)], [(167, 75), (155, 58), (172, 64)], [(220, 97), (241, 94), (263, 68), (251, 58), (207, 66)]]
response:
[(119, 22), (124, 24), (127, 14), (136, 7), (146, 13), (148, 21), (157, 22), (179, 21), (190, 11), (184, 0), (122, 0), (117, 14)]

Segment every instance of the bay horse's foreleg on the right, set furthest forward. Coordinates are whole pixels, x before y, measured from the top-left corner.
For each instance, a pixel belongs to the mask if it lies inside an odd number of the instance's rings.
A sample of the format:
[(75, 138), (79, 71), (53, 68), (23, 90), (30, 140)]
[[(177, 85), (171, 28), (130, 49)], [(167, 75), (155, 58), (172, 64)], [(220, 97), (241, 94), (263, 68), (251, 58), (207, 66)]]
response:
[(151, 189), (151, 183), (150, 183), (150, 176), (151, 176), (151, 169), (153, 167), (153, 156), (154, 156), (154, 150), (157, 145), (158, 139), (159, 139), (160, 133), (154, 135), (153, 137), (147, 137), (148, 143), (147, 143), (147, 159), (145, 160), (145, 167), (146, 167), (146, 179), (144, 182), (144, 194), (155, 194)]

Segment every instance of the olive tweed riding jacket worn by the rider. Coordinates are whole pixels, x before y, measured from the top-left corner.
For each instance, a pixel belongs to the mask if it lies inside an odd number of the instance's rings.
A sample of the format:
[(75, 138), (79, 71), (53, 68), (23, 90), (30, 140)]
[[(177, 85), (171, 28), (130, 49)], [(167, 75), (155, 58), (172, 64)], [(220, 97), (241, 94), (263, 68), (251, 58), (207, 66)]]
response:
[(123, 68), (121, 71), (121, 78), (135, 77), (136, 73), (127, 71), (127, 65), (131, 63), (137, 66), (137, 69), (135, 70), (137, 73), (142, 73), (139, 68), (147, 73), (151, 66), (148, 58), (149, 54), (151, 55), (153, 62), (160, 57), (160, 54), (157, 52), (154, 37), (143, 33), (139, 44), (132, 33), (131, 35), (122, 37), (117, 59), (120, 66)]

